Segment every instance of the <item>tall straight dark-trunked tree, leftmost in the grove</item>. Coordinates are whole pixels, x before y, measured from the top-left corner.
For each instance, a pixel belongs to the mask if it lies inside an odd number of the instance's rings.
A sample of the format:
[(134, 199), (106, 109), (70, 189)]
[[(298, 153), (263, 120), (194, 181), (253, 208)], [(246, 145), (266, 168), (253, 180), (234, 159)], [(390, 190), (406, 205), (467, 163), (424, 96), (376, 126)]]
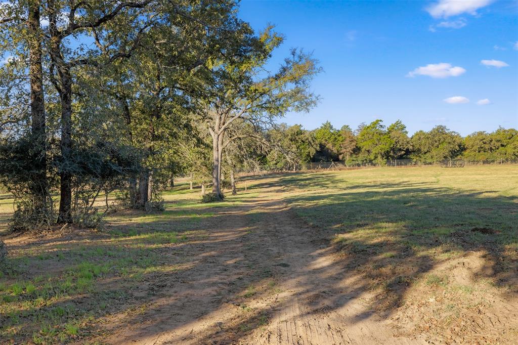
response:
[[(44, 33), (40, 27), (40, 20), (38, 1), (0, 4), (0, 50), (12, 54), (0, 70), (3, 76), (1, 87), (5, 88), (0, 113), (7, 115), (5, 121), (0, 123), (0, 131), (4, 130), (5, 125), (20, 121), (21, 118), (15, 113), (23, 113), (23, 104), (29, 104), (28, 121), (31, 124), (31, 132), (22, 135), (28, 135), (25, 154), (28, 154), (27, 159), (32, 162), (32, 166), (23, 173), (25, 178), (17, 181), (23, 184), (25, 180), (28, 183), (27, 192), (30, 196), (25, 204), (28, 209), (24, 212), (32, 213), (35, 223), (48, 222), (52, 217), (47, 179), (47, 133), (42, 72)], [(24, 89), (27, 70), (27, 88), (30, 90), (28, 96)], [(21, 137), (20, 140), (25, 139)], [(23, 187), (20, 185), (18, 189), (23, 190)]]

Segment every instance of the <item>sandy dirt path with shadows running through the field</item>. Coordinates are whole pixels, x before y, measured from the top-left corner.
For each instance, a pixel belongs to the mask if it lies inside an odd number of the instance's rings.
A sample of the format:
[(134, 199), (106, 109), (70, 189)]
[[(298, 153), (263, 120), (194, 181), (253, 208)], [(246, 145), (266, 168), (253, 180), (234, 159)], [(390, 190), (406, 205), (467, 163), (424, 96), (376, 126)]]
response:
[(210, 228), (206, 240), (175, 253), (189, 256), (192, 269), (140, 286), (135, 296), (153, 295), (152, 301), (138, 315), (106, 320), (112, 334), (105, 341), (421, 343), (394, 336), (365, 303), (369, 292), (355, 289), (358, 278), (330, 251), (322, 231), (297, 220), (282, 200), (256, 198), (213, 217)]

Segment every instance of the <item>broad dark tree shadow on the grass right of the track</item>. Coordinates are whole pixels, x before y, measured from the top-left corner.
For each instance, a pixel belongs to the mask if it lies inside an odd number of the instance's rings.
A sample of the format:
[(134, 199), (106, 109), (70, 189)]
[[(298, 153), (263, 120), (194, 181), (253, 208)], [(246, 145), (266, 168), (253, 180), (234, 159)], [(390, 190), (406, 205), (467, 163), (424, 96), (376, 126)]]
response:
[(468, 252), (484, 253), (478, 277), (516, 286), (516, 198), (408, 183), (395, 187), (380, 193), (352, 186), (347, 192), (287, 201), (312, 226), (332, 229), (349, 268), (384, 286), (387, 315), (400, 306), (414, 280)]

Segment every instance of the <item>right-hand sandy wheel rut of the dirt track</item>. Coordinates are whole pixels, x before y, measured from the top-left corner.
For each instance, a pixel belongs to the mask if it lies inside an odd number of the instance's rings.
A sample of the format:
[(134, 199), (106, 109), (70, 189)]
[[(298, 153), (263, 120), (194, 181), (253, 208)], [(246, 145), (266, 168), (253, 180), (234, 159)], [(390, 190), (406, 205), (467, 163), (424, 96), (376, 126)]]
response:
[[(283, 254), (274, 259), (289, 266), (277, 277), (280, 305), (271, 322), (240, 341), (257, 344), (405, 344), (422, 339), (395, 337), (388, 321), (376, 319), (364, 302), (370, 296), (343, 281), (344, 266), (323, 243), (322, 235), (301, 224), (282, 200), (260, 206), (268, 217), (261, 221), (262, 235), (275, 238)], [(315, 243), (321, 243), (320, 246)], [(267, 300), (265, 305), (275, 303)]]

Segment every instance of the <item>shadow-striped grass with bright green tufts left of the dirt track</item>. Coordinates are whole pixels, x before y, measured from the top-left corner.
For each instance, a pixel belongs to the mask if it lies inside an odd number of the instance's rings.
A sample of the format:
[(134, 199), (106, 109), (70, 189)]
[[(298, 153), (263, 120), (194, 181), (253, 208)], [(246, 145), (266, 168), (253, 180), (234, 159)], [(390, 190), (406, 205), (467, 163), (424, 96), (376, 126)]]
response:
[[(169, 226), (192, 218), (181, 212), (176, 215), (179, 219), (171, 217)], [(173, 232), (163, 226), (151, 222), (134, 231), (116, 225), (111, 235), (42, 237), (10, 246), (13, 252), (24, 254), (11, 260), (18, 270), (16, 276), (0, 281), (0, 339), (70, 340), (74, 337), (65, 333), (65, 324), (82, 324), (81, 330), (86, 332), (96, 326), (92, 319), (138, 315), (140, 308), (155, 300), (181, 296), (177, 287), (192, 283), (180, 278), (181, 272), (186, 275), (181, 277), (189, 277), (199, 272), (200, 263), (215, 265), (222, 256), (219, 248), (236, 245), (236, 241), (239, 245), (239, 237), (246, 235), (233, 224), (222, 226), (210, 237), (191, 230)], [(208, 269), (207, 274), (211, 272)], [(246, 269), (241, 272), (246, 274)]]

